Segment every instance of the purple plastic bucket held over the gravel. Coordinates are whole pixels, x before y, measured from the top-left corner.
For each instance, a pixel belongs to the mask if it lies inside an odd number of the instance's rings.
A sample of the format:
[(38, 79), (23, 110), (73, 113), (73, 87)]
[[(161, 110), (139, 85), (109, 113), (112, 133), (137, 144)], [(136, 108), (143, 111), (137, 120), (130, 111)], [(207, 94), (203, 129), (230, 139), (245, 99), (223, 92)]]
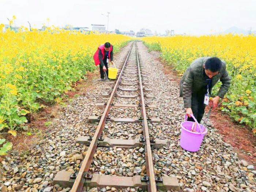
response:
[(199, 124), (196, 118), (191, 115), (191, 117), (196, 121), (196, 132), (191, 131), (193, 121), (187, 121), (187, 116), (185, 121), (181, 123), (181, 137), (180, 146), (190, 152), (196, 152), (199, 150), (204, 135), (207, 133), (207, 128)]

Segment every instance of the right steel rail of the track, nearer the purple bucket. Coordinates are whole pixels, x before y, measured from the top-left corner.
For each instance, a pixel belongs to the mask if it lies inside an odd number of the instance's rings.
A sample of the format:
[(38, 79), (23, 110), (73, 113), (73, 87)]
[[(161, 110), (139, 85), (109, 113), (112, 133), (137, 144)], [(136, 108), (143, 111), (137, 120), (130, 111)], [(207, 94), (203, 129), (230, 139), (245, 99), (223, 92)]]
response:
[(137, 57), (138, 73), (139, 73), (140, 104), (142, 105), (141, 113), (142, 113), (142, 119), (143, 119), (142, 120), (143, 136), (144, 136), (144, 140), (146, 141), (145, 159), (146, 159), (147, 176), (149, 176), (148, 192), (157, 192), (157, 185), (155, 183), (153, 158), (152, 158), (152, 152), (151, 152), (151, 146), (150, 146), (150, 137), (149, 137), (149, 131), (148, 131), (146, 106), (145, 106), (144, 94), (143, 94), (142, 78), (141, 78), (141, 73), (140, 73), (140, 63), (139, 63), (139, 54), (138, 54), (137, 43), (135, 44), (135, 47), (136, 47), (136, 57)]

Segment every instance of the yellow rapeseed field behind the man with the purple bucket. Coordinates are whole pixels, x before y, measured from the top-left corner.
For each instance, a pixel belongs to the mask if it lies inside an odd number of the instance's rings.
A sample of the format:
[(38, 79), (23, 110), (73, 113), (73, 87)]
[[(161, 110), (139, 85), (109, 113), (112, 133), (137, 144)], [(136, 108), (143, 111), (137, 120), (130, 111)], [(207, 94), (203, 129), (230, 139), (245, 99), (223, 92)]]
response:
[[(206, 35), (144, 37), (150, 49), (160, 50), (162, 59), (182, 75), (193, 60), (217, 56), (226, 61), (232, 84), (222, 101), (222, 111), (245, 123), (256, 133), (256, 36)], [(220, 83), (215, 87), (218, 89)], [(216, 93), (216, 92), (215, 92)]]

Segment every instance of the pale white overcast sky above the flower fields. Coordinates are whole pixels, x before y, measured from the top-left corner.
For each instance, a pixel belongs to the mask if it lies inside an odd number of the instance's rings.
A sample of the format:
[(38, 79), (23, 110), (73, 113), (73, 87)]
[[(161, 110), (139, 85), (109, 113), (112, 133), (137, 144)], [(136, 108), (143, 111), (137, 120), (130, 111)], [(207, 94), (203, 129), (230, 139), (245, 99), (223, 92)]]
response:
[(0, 23), (17, 17), (16, 26), (41, 28), (42, 23), (89, 27), (107, 25), (109, 30), (139, 31), (148, 28), (165, 33), (193, 35), (224, 31), (232, 26), (256, 30), (256, 0), (0, 0)]

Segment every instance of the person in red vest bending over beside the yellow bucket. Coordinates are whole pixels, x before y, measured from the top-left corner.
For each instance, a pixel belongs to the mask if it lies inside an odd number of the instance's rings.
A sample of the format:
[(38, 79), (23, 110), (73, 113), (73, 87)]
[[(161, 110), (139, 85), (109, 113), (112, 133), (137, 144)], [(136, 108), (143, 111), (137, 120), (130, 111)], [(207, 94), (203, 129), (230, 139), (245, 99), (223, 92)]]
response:
[(99, 65), (99, 72), (101, 74), (101, 81), (105, 81), (104, 71), (108, 75), (108, 63), (113, 64), (113, 45), (109, 42), (106, 42), (103, 45), (100, 45), (95, 52), (94, 56), (95, 65)]

